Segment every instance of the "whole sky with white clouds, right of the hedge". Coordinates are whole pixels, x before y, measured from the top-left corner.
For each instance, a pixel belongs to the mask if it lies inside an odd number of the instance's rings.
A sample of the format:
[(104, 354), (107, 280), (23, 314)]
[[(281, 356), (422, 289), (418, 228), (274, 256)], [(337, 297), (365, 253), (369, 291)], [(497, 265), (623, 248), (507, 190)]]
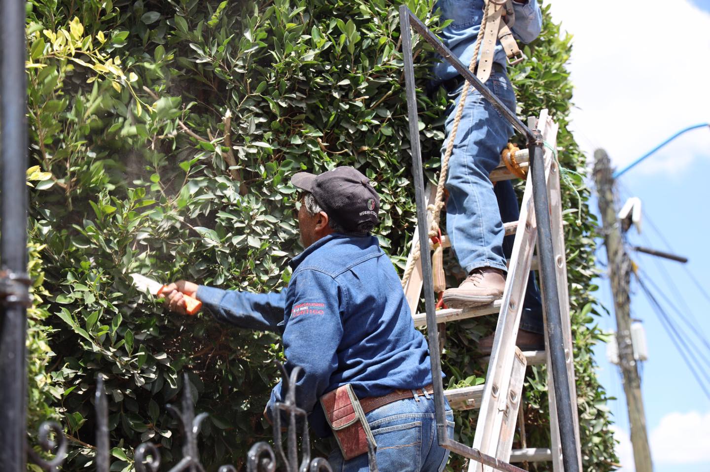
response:
[[(574, 0), (545, 2), (552, 4), (555, 20), (574, 35), (569, 68), (576, 108), (571, 128), (587, 153), (605, 148), (621, 168), (676, 131), (710, 121), (706, 60), (710, 0), (599, 0), (593, 6)], [(682, 34), (663, 33), (671, 8), (676, 18), (682, 18)], [(666, 251), (669, 243), (672, 251), (689, 258), (687, 270), (708, 292), (709, 176), (710, 128), (701, 128), (673, 141), (619, 180), (621, 197), (640, 197), (647, 219), (640, 235), (633, 229), (629, 232), (630, 243)], [(596, 200), (591, 204), (596, 207)], [(692, 314), (696, 329), (710, 335), (710, 302), (682, 265), (637, 253), (631, 256), (649, 280), (678, 300), (683, 314)], [(606, 260), (603, 250), (599, 258)], [(611, 308), (608, 279), (599, 280), (599, 285), (598, 296)], [(635, 283), (633, 290), (632, 316), (643, 320), (648, 338), (642, 391), (655, 471), (708, 472), (710, 400)], [(679, 322), (679, 315), (667, 309)], [(615, 329), (613, 315), (600, 324), (608, 331)], [(618, 397), (610, 407), (621, 441), (622, 470), (630, 472), (633, 455), (618, 368), (606, 361), (606, 346), (599, 346), (596, 359), (601, 383)]]

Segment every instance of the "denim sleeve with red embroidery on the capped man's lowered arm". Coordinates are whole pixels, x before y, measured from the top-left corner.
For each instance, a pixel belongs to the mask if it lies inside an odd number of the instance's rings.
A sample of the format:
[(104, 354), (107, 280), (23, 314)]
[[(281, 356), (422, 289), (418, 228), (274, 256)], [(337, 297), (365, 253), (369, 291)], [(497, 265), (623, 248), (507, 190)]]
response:
[[(296, 400), (310, 414), (325, 393), (338, 367), (337, 349), (343, 336), (344, 294), (330, 275), (317, 270), (294, 274), (286, 295), (286, 326), (283, 332), (286, 371), (303, 371), (296, 383)], [(267, 414), (273, 418), (275, 402), (283, 402), (283, 382), (271, 392)]]

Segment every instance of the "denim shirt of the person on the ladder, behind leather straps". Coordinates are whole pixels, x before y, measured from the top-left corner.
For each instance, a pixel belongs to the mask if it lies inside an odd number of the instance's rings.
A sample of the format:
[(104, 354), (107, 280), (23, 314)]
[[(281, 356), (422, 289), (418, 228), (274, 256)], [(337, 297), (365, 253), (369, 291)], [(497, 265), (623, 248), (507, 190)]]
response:
[[(441, 10), (441, 21), (453, 20), (441, 33), (439, 38), (466, 67), (471, 63), (476, 48), (476, 37), (481, 29), (481, 19), (484, 15), (484, 0), (439, 0), (435, 9)], [(542, 29), (542, 13), (537, 0), (528, 0), (525, 4), (513, 1), (515, 23), (510, 31), (515, 39), (527, 44), (537, 38)], [(479, 53), (479, 57), (481, 54)], [(496, 52), (493, 62), (506, 65), (506, 52), (500, 42), (496, 42)], [(443, 82), (459, 75), (446, 60), (433, 67), (434, 82)]]

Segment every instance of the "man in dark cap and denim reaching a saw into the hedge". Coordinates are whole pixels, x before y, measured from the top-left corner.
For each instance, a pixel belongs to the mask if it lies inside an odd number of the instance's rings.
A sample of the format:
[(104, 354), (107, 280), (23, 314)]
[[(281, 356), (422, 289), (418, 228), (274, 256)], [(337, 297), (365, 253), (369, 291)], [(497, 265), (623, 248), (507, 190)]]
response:
[[(173, 291), (165, 303), (185, 313), (182, 294), (194, 295), (223, 322), (280, 332), (287, 371), (305, 371), (296, 384), (297, 405), (316, 434), (331, 434), (329, 424), (338, 419), (332, 405), (342, 405), (340, 393), (351, 388), (380, 471), (442, 470), (449, 453), (437, 442), (427, 341), (414, 328), (395, 268), (371, 235), (377, 192), (350, 167), (299, 172), (291, 182), (304, 192), (298, 226), (305, 251), (291, 260), (285, 290), (254, 294), (182, 280), (168, 286)], [(284, 400), (282, 385), (271, 393), (268, 417)], [(447, 419), (453, 434), (451, 410)], [(348, 439), (336, 436), (333, 470), (367, 471), (365, 451), (349, 450)]]

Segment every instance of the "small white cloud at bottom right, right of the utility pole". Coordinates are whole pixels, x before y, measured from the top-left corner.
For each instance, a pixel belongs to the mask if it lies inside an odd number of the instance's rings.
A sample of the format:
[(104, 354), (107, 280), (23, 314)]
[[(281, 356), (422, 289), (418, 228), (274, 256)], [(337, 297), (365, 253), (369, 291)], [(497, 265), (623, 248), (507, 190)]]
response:
[(654, 463), (710, 464), (710, 412), (672, 412), (650, 434)]

